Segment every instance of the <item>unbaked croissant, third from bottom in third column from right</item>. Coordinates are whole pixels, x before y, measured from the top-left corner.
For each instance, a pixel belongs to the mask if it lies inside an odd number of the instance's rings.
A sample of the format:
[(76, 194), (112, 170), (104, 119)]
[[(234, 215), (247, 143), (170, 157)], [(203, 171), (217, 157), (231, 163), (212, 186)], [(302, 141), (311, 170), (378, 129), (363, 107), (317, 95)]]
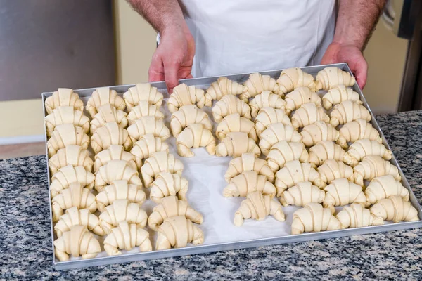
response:
[(321, 177), (318, 172), (312, 168), (309, 163), (300, 163), (298, 160), (286, 162), (283, 168), (276, 173), (276, 188), (277, 197), (281, 196), (281, 193), (287, 188), (291, 188), (294, 185), (302, 181), (312, 182), (319, 188), (324, 188), (325, 183), (321, 181)]

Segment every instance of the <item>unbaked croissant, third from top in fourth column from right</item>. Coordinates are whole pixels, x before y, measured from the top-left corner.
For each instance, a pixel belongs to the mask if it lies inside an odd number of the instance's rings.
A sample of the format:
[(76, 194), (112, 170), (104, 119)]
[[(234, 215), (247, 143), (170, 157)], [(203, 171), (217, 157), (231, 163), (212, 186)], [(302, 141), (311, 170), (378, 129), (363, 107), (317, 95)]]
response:
[(245, 117), (241, 117), (238, 113), (227, 115), (223, 118), (215, 130), (215, 135), (221, 141), (230, 132), (243, 132), (248, 133), (248, 137), (252, 138), (255, 142), (258, 141), (257, 133), (255, 132), (255, 124)]

